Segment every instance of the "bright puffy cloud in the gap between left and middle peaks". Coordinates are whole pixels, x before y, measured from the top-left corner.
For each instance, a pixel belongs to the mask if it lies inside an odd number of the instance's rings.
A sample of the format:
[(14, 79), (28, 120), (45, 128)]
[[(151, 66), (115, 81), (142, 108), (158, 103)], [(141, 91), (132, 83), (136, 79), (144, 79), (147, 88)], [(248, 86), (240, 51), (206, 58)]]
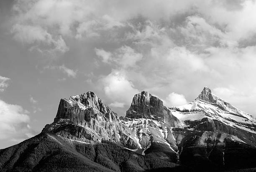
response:
[(113, 71), (105, 78), (102, 78), (101, 81), (103, 82), (105, 94), (112, 101), (130, 104), (133, 96), (139, 92), (134, 88), (133, 83), (128, 81), (120, 71)]

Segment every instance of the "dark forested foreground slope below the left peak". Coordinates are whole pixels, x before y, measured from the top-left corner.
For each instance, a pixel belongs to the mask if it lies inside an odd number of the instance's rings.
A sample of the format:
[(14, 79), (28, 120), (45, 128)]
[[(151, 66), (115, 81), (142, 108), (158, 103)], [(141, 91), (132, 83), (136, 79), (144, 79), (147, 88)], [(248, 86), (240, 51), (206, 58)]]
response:
[(145, 157), (113, 142), (87, 144), (56, 134), (39, 134), (0, 150), (1, 172), (129, 172), (166, 168), (186, 171), (172, 162)]

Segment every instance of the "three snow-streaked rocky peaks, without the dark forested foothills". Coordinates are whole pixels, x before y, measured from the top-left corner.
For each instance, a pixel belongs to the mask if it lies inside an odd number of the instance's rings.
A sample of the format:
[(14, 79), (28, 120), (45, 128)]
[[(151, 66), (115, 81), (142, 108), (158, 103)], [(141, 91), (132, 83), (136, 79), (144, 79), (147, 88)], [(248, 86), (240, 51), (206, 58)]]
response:
[(61, 99), (54, 122), (43, 132), (70, 142), (111, 141), (142, 155), (176, 162), (189, 147), (205, 147), (212, 152), (216, 145), (225, 148), (230, 140), (256, 146), (255, 126), (253, 116), (205, 87), (195, 101), (169, 108), (142, 91), (133, 97), (126, 116), (120, 118), (93, 92), (71, 96)]

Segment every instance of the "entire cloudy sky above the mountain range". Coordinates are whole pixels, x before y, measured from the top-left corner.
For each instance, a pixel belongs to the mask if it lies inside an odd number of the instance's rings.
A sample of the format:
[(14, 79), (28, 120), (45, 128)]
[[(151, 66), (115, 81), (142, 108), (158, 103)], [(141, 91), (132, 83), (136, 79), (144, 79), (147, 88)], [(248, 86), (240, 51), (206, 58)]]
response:
[(208, 86), (256, 114), (253, 0), (0, 0), (0, 148), (41, 132), (59, 100), (95, 91), (120, 116)]

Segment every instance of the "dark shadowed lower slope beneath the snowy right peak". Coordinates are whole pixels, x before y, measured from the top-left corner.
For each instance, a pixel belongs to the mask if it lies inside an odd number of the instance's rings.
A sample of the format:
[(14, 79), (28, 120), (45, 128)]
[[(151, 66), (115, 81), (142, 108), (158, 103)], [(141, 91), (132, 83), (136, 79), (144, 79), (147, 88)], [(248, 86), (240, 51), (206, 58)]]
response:
[[(241, 166), (248, 164), (246, 160), (241, 163), (243, 161), (241, 157), (250, 157), (251, 151), (255, 151), (255, 148), (238, 137), (221, 132), (173, 129), (173, 135), (179, 149), (179, 160), (189, 167), (195, 164), (206, 169), (216, 168), (216, 164), (217, 167), (232, 167), (232, 161)], [(219, 169), (212, 170), (220, 171)]]

